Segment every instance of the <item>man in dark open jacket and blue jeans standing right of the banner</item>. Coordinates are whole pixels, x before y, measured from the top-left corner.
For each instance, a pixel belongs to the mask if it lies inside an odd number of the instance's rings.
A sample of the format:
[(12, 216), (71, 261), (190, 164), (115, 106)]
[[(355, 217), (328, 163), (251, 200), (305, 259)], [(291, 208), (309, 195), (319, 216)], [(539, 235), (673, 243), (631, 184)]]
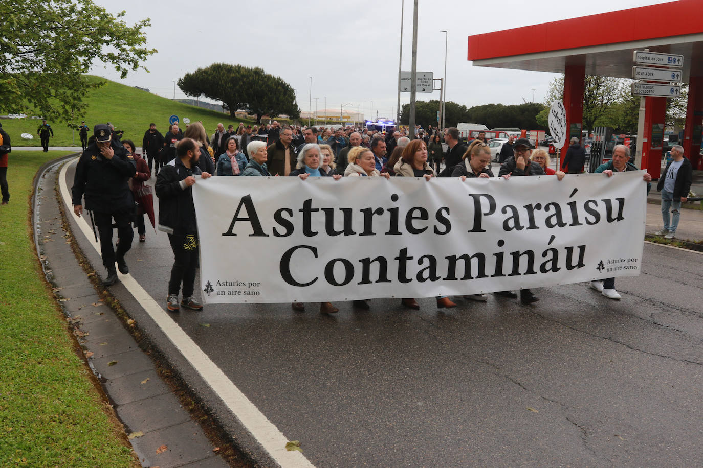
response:
[[(691, 189), (693, 166), (688, 158), (683, 157), (683, 147), (676, 145), (671, 148), (671, 161), (666, 163), (666, 168), (657, 183), (657, 190), (662, 192), (662, 220), (664, 228), (655, 232), (664, 239), (673, 239), (676, 236), (678, 220), (681, 217), (681, 203), (688, 199)], [(671, 209), (671, 220), (669, 219)]]

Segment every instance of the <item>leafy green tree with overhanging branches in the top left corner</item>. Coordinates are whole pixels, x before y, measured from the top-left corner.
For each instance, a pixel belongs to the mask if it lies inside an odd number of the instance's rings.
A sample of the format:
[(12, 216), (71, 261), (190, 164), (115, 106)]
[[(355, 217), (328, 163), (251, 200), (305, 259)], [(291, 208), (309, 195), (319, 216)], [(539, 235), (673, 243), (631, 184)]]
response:
[(122, 16), (92, 0), (0, 1), (0, 111), (74, 126), (89, 90), (103, 84), (83, 76), (93, 60), (124, 78), (156, 52), (143, 47), (150, 20), (130, 27)]

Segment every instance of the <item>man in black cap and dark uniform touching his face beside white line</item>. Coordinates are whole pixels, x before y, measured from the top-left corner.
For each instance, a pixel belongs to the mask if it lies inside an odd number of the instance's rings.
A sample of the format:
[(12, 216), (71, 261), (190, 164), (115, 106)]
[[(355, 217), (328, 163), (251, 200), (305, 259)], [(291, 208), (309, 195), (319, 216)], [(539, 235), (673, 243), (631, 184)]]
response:
[[(95, 141), (81, 155), (73, 179), (73, 211), (77, 216), (85, 208), (93, 214), (98, 233), (103, 265), (108, 276), (103, 285), (111, 286), (117, 281), (115, 262), (120, 273), (129, 273), (124, 254), (131, 248), (134, 230), (129, 222), (134, 210), (134, 199), (127, 181), (136, 175), (136, 164), (119, 142), (112, 139), (110, 127), (100, 123), (93, 129)], [(117, 225), (120, 243), (117, 252), (112, 248), (112, 218)]]

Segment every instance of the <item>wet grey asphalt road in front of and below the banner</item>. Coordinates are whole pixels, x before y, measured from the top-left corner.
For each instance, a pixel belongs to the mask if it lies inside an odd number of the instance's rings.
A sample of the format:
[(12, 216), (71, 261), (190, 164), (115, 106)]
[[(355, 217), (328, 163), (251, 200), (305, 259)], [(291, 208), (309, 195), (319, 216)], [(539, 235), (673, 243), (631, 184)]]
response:
[[(76, 235), (102, 273), (94, 241)], [(619, 302), (577, 283), (535, 290), (533, 306), (489, 295), (449, 310), (434, 299), (419, 300), (417, 312), (373, 300), (363, 312), (337, 303), (334, 316), (289, 304), (169, 316), (317, 467), (692, 467), (703, 465), (702, 260), (646, 244), (643, 274), (617, 279)], [(148, 227), (127, 261), (165, 308), (165, 234)], [(124, 283), (110, 290), (269, 466), (143, 301)]]

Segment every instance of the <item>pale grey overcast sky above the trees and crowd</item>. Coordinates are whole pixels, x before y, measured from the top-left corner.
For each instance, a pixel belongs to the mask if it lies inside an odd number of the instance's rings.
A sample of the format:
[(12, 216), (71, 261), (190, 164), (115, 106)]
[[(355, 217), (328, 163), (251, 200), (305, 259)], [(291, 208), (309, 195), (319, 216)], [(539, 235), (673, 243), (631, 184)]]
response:
[[(471, 107), (488, 103), (542, 102), (555, 74), (472, 67), (467, 36), (542, 22), (663, 3), (657, 0), (458, 1), (420, 0), (418, 62), (420, 72), (444, 74), (444, 34), (448, 34), (446, 99)], [(183, 74), (214, 62), (262, 67), (295, 88), (298, 105), (361, 108), (367, 118), (394, 116), (397, 101), (401, 0), (353, 1), (160, 1), (96, 0), (110, 13), (124, 10), (133, 25), (151, 19), (148, 47), (156, 48), (126, 79), (103, 65), (91, 73), (152, 93), (174, 97), (174, 83)], [(344, 5), (344, 6), (342, 6)], [(610, 25), (603, 25), (607, 34)], [(662, 23), (666, 27), (666, 23)], [(405, 1), (403, 70), (411, 69), (413, 1)], [(559, 38), (554, 38), (555, 44)], [(310, 79), (312, 76), (312, 93)], [(534, 93), (531, 90), (535, 90)], [(186, 97), (176, 86), (176, 97)], [(439, 99), (439, 91), (418, 93), (418, 100)], [(362, 101), (365, 101), (362, 104)], [(401, 105), (410, 93), (401, 93)], [(378, 112), (378, 114), (377, 114)]]

